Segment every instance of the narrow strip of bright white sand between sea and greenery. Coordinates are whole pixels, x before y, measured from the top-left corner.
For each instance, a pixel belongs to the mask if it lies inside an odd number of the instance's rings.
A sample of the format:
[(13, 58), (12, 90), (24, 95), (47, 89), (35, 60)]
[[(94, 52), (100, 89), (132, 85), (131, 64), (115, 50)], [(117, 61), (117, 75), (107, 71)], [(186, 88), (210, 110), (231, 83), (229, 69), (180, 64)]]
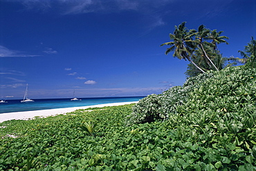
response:
[(131, 102), (120, 102), (120, 103), (106, 103), (100, 105), (87, 105), (75, 108), (59, 108), (59, 109), (49, 109), (49, 110), (34, 110), (34, 111), (26, 111), (26, 112), (10, 112), (10, 113), (2, 113), (0, 114), (0, 123), (3, 121), (9, 121), (12, 119), (33, 119), (33, 117), (49, 117), (56, 114), (66, 114), (68, 112), (73, 112), (79, 109), (87, 109), (87, 108), (102, 108), (105, 106), (114, 106), (114, 105), (127, 105), (131, 103), (138, 103), (138, 101)]

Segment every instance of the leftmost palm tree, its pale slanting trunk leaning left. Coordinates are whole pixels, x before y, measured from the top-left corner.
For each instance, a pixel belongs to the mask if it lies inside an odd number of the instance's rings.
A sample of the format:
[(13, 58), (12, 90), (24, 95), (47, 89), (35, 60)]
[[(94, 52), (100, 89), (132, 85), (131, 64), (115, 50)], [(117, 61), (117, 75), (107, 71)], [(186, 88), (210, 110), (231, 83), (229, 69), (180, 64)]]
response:
[(167, 45), (171, 46), (167, 48), (165, 54), (168, 54), (171, 51), (174, 51), (173, 57), (177, 57), (179, 59), (184, 59), (185, 61), (188, 59), (193, 65), (198, 68), (201, 72), (204, 72), (199, 66), (192, 61), (190, 56), (192, 56), (192, 50), (185, 45), (186, 42), (190, 41), (190, 36), (188, 35), (188, 30), (185, 28), (185, 22), (181, 23), (178, 27), (175, 26), (175, 30), (173, 34), (170, 34), (170, 42), (163, 43), (161, 46)]

